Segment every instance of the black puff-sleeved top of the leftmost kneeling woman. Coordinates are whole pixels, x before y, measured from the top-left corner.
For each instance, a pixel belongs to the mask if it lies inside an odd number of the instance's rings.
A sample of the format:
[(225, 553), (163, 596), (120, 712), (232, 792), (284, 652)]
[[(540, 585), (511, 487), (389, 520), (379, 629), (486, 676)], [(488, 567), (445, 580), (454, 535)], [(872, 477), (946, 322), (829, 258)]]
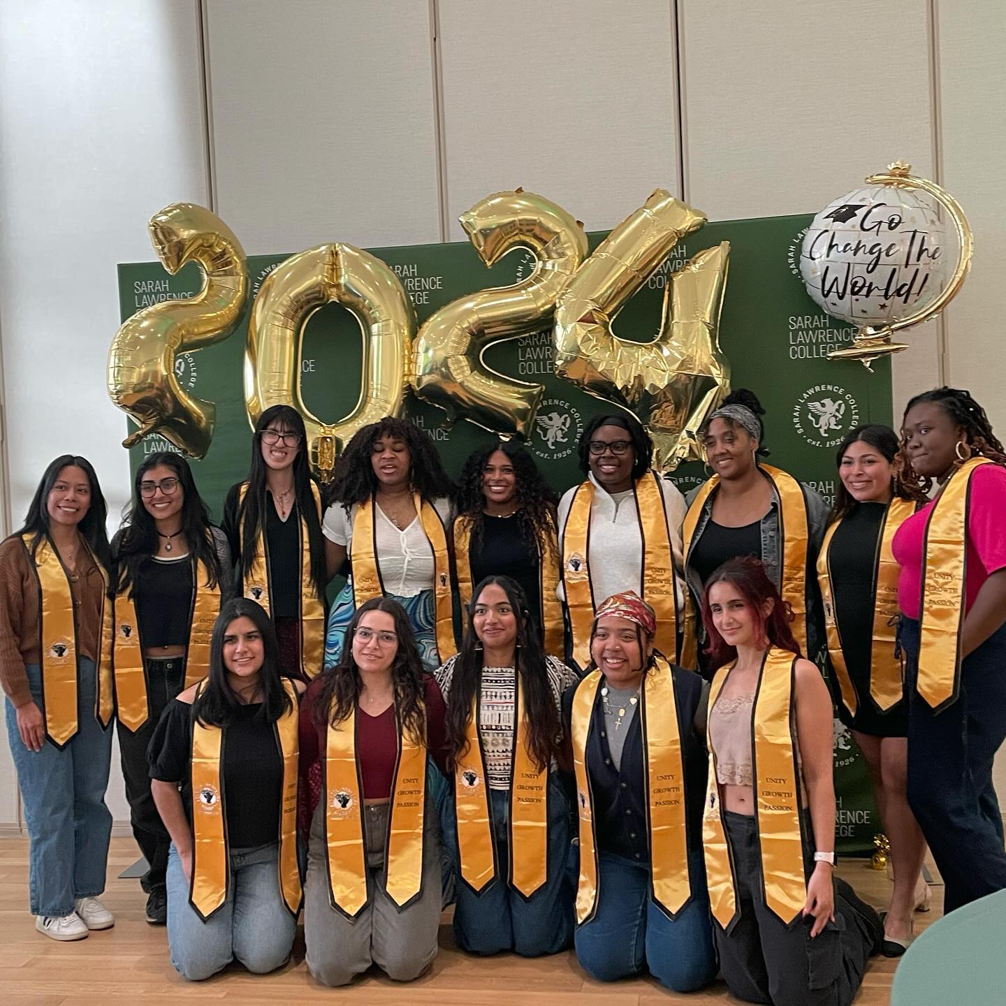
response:
[[(280, 839), (283, 757), (273, 723), (259, 715), (261, 702), (237, 706), (224, 727), (220, 760), (223, 812), (230, 849), (254, 849)], [(192, 706), (172, 700), (147, 748), (150, 778), (179, 783), (192, 820)]]

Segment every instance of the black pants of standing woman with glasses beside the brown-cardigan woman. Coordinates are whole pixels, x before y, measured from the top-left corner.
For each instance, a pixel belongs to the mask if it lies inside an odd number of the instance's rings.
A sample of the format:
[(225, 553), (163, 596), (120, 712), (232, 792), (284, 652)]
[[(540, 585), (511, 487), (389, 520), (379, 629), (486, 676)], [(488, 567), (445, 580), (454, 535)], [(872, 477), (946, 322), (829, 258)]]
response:
[(147, 765), (147, 746), (154, 727), (161, 718), (164, 707), (185, 687), (185, 658), (172, 657), (144, 660), (147, 677), (147, 705), (150, 715), (147, 722), (135, 733), (122, 722), (119, 729), (119, 750), (122, 754), (123, 778), (126, 782), (126, 799), (129, 801), (130, 824), (133, 836), (140, 846), (150, 869), (140, 880), (143, 889), (163, 886), (164, 872), (168, 866), (168, 847), (171, 838), (161, 822), (150, 793), (150, 773)]

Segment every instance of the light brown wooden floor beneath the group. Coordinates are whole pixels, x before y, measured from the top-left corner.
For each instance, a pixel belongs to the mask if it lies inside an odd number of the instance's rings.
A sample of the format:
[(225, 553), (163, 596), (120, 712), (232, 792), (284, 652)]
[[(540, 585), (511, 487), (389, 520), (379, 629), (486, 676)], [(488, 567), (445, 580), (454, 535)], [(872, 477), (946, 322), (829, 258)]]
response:
[[(249, 975), (233, 965), (206, 982), (183, 982), (168, 960), (163, 927), (144, 921), (145, 896), (137, 880), (120, 880), (138, 852), (132, 839), (116, 838), (109, 857), (109, 884), (103, 897), (116, 926), (77, 943), (59, 944), (35, 932), (27, 911), (28, 843), (0, 839), (0, 1003), (3, 1006), (170, 1006), (195, 998), (275, 1006), (277, 1002), (436, 1003), (438, 1006), (563, 1006), (608, 1003), (625, 1006), (709, 1006), (735, 1003), (722, 982), (702, 992), (674, 995), (651, 978), (603, 985), (580, 970), (571, 952), (526, 961), (512, 955), (473, 958), (454, 944), (451, 927), (441, 927), (440, 954), (430, 973), (407, 986), (368, 973), (348, 989), (315, 984), (304, 964), (301, 936), (294, 959), (272, 975)], [(932, 871), (932, 862), (929, 864)], [(878, 908), (887, 897), (887, 880), (868, 860), (847, 860), (840, 869), (856, 890)], [(915, 932), (940, 916), (943, 887), (933, 890), (933, 910), (916, 914)], [(866, 973), (858, 1006), (886, 1006), (895, 962), (874, 958)]]

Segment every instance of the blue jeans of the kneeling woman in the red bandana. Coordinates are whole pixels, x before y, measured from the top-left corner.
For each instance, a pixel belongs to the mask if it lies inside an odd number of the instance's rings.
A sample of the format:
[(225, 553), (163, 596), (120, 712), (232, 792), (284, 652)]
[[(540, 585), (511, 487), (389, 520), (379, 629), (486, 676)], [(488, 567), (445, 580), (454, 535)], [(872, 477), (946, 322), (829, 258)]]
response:
[(716, 975), (702, 854), (690, 854), (696, 893), (673, 921), (650, 896), (650, 867), (600, 854), (598, 910), (576, 930), (576, 960), (592, 978), (650, 974), (673, 992), (694, 992)]

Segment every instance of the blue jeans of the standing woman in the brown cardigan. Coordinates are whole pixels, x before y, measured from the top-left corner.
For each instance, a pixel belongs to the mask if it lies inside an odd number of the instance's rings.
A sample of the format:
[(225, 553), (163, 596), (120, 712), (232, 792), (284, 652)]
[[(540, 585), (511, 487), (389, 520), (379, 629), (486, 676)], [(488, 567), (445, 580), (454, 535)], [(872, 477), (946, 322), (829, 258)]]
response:
[[(28, 687), (39, 708), (42, 671), (29, 664)], [(46, 740), (40, 751), (24, 746), (17, 712), (7, 706), (7, 738), (24, 804), (30, 853), (28, 888), (34, 915), (68, 915), (73, 901), (105, 890), (112, 814), (105, 806), (112, 762), (112, 729), (95, 717), (95, 664), (77, 661), (77, 731), (62, 750)]]

